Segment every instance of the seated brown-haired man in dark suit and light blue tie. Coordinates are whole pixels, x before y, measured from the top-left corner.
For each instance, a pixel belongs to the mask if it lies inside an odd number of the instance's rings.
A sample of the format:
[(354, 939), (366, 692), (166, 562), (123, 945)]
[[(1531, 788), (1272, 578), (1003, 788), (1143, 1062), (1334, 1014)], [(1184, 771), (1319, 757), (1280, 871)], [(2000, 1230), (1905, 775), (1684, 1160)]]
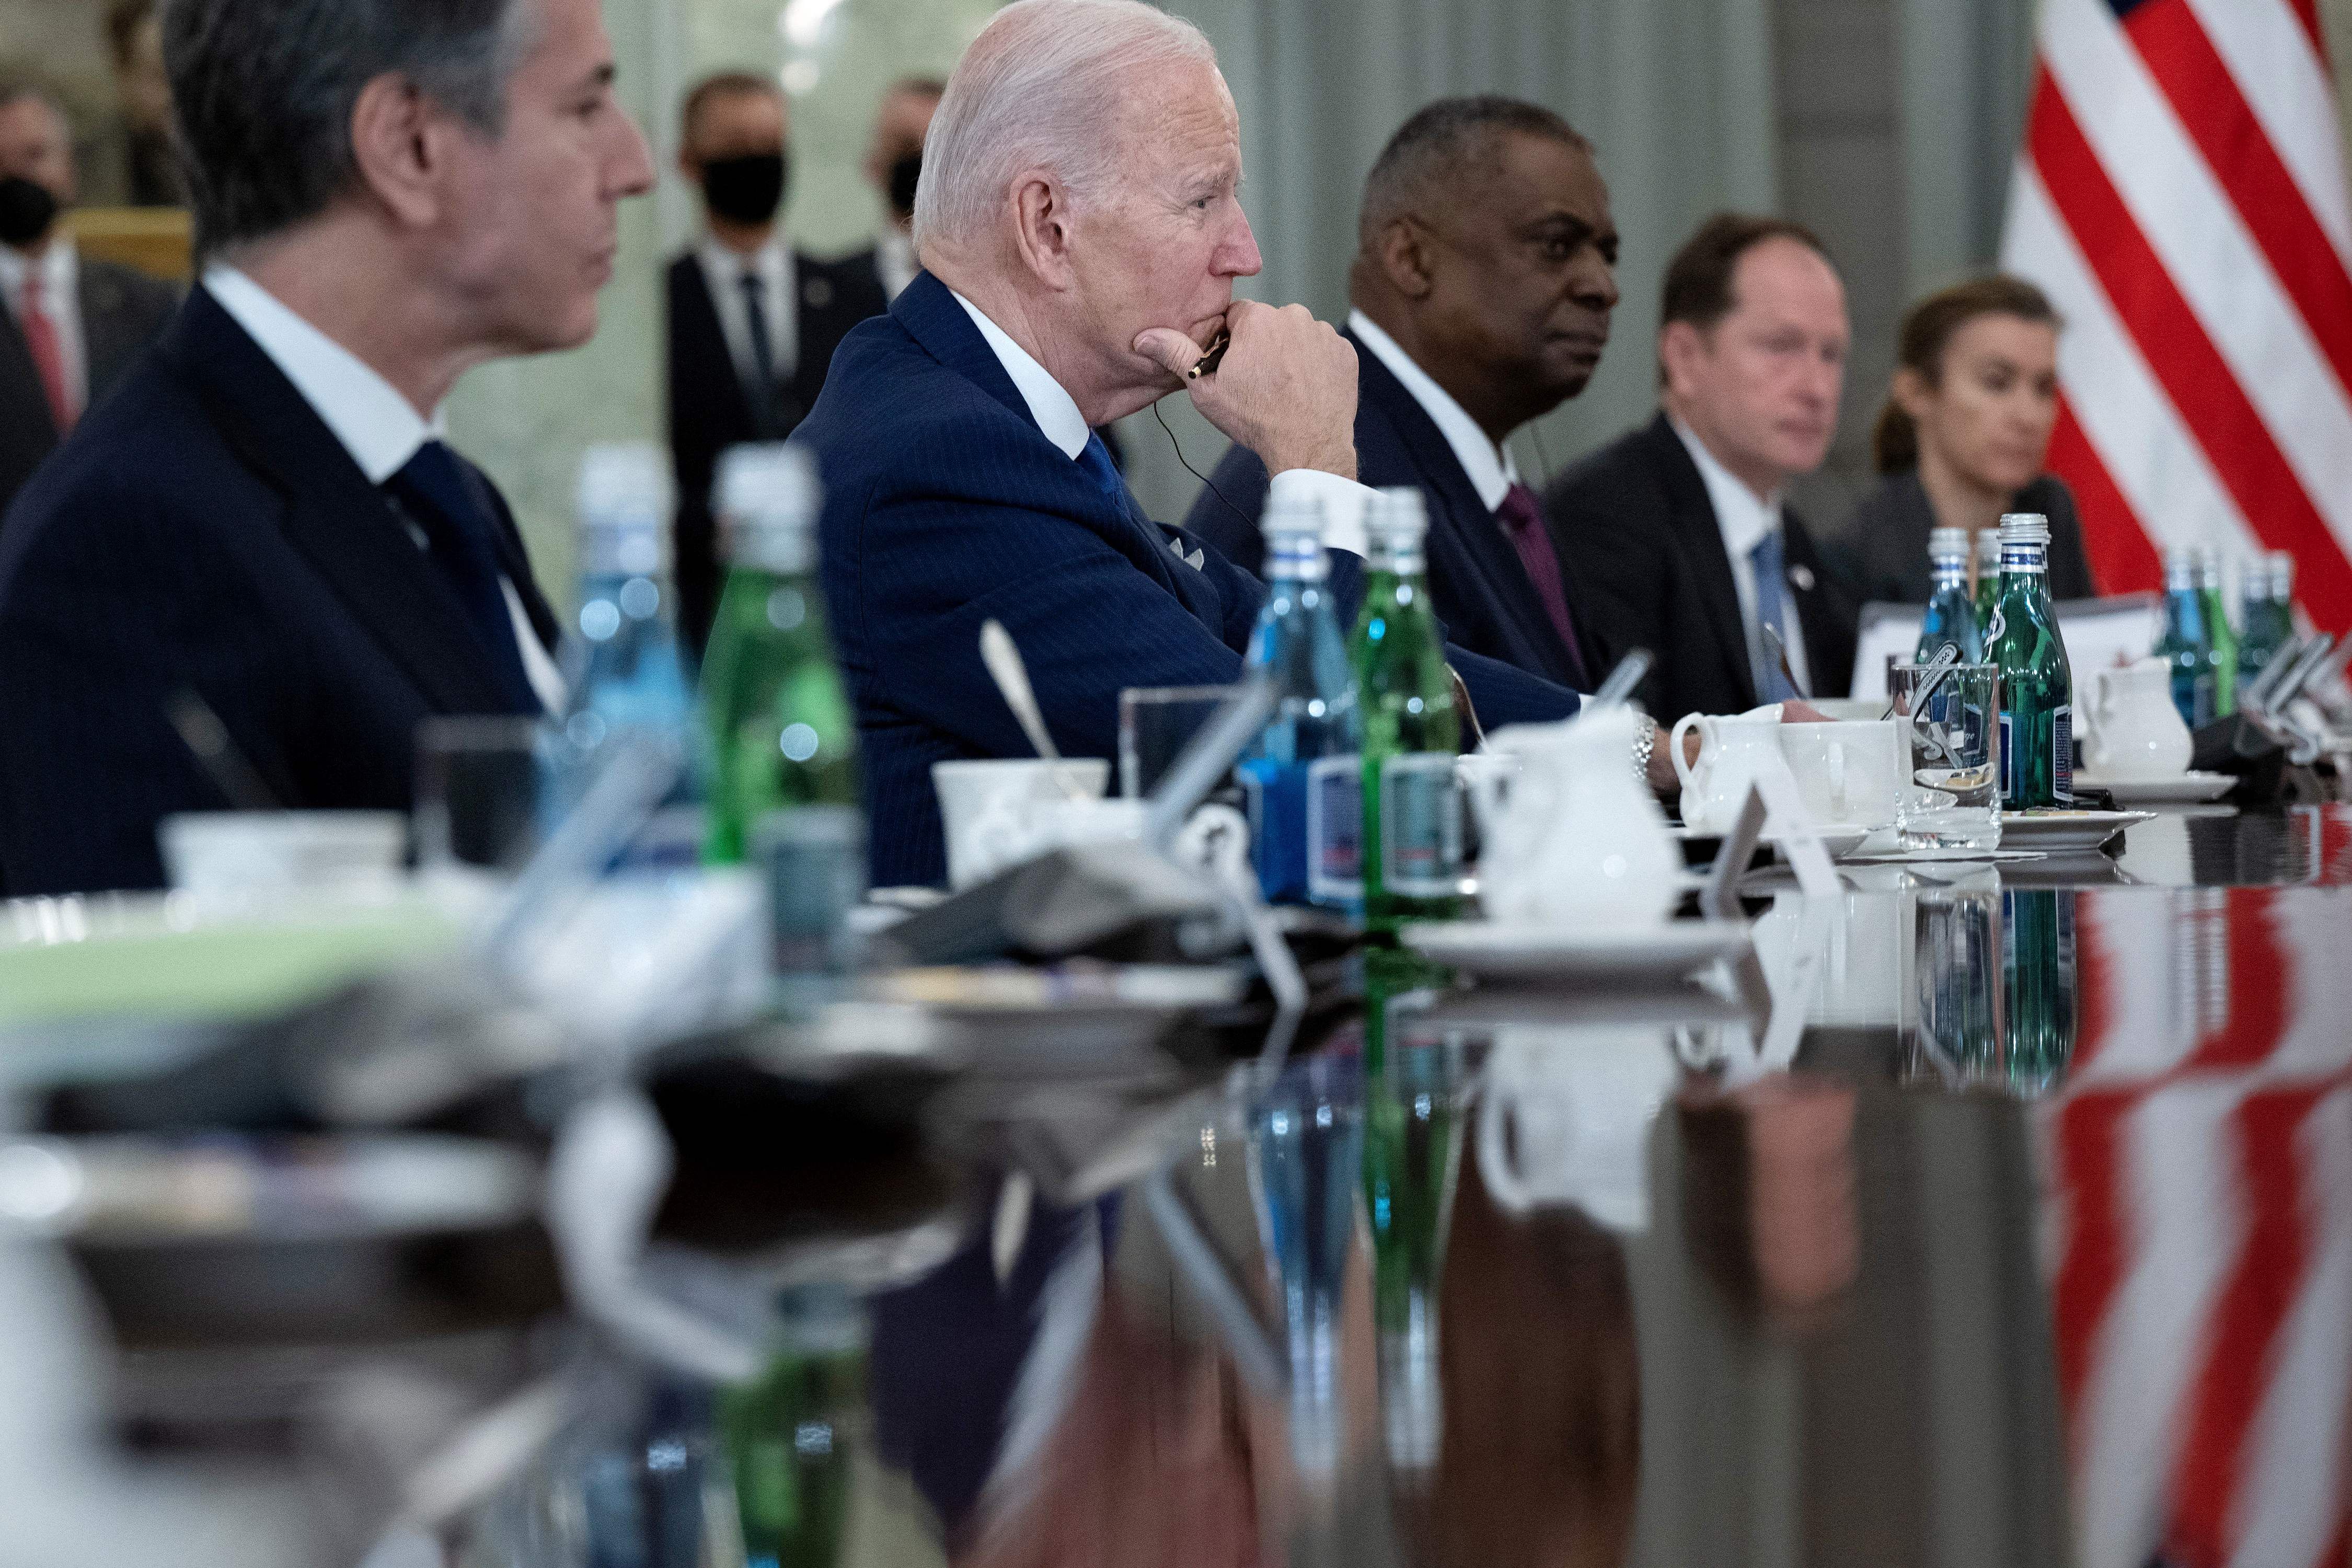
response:
[(1665, 268), (1658, 418), (1543, 498), (1602, 658), (1658, 656), (1642, 696), (1661, 719), (1844, 696), (1853, 679), (1853, 595), (1780, 503), (1830, 451), (1849, 336), (1813, 235), (1708, 219)]

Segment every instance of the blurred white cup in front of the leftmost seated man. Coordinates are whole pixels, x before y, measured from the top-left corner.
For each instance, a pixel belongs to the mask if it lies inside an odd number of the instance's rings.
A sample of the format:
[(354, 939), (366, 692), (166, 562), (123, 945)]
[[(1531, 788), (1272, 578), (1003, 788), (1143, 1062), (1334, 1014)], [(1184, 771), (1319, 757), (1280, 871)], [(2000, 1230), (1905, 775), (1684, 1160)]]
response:
[(155, 832), (183, 893), (376, 893), (400, 884), (397, 811), (183, 811)]

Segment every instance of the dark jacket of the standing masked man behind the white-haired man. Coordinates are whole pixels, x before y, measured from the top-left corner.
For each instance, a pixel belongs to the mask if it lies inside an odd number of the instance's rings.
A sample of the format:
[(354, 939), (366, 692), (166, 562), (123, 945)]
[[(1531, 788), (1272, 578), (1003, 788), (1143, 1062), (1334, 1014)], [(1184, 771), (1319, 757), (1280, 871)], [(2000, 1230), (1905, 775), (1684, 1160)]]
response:
[(722, 567), (710, 520), (710, 480), (720, 454), (743, 442), (781, 442), (826, 386), (833, 350), (868, 315), (882, 315), (882, 282), (873, 268), (818, 261), (793, 252), (797, 277), (800, 362), (776, 393), (774, 409), (755, 409), (727, 353), (727, 331), (703, 263), (689, 249), (670, 261), (670, 461), (677, 468), (677, 630), (701, 658), (720, 602)]

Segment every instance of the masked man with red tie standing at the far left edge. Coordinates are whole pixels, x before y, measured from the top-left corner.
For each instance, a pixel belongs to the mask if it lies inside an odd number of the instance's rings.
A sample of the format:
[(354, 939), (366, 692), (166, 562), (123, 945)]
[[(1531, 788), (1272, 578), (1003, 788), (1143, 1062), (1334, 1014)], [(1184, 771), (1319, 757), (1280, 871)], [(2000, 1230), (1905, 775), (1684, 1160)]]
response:
[(82, 256), (64, 110), (0, 85), (0, 512), (172, 320), (179, 292)]

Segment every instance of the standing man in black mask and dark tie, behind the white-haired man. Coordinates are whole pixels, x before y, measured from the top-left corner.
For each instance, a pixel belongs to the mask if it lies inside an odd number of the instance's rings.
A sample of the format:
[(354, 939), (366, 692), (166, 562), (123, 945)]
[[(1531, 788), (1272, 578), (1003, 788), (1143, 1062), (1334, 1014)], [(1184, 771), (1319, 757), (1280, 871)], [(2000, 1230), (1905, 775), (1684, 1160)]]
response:
[(842, 334), (887, 306), (870, 268), (793, 249), (783, 92), (729, 71), (687, 94), (677, 167), (708, 228), (670, 261), (670, 458), (677, 465), (677, 628), (701, 656), (722, 564), (710, 517), (720, 454), (781, 442), (826, 386)]

